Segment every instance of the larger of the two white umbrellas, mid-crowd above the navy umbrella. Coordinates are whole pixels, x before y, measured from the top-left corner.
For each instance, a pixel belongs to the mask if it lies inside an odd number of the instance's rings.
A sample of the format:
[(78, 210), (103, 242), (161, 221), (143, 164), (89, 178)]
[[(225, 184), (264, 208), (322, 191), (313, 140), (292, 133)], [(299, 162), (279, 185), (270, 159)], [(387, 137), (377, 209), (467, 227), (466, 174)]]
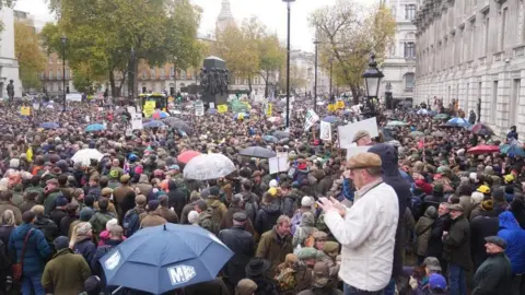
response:
[(184, 167), (184, 178), (195, 180), (218, 179), (236, 170), (235, 164), (223, 154), (202, 154), (191, 158)]

